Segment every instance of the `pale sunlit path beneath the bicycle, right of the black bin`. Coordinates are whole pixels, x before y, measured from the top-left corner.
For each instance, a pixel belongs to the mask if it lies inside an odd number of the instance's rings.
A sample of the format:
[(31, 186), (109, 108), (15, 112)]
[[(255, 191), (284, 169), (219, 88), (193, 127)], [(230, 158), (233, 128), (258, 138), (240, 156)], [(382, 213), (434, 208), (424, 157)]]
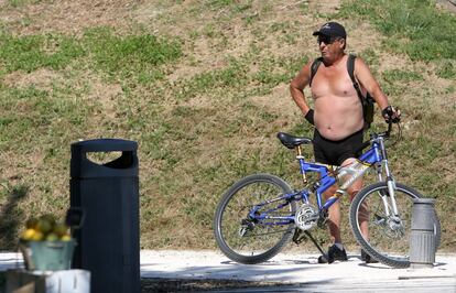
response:
[(239, 264), (215, 251), (141, 251), (143, 278), (230, 279), (256, 282), (376, 282), (384, 280), (446, 280), (456, 292), (456, 256), (437, 254), (431, 269), (393, 269), (366, 264), (349, 253), (346, 262), (319, 264), (318, 254), (280, 253), (262, 264)]

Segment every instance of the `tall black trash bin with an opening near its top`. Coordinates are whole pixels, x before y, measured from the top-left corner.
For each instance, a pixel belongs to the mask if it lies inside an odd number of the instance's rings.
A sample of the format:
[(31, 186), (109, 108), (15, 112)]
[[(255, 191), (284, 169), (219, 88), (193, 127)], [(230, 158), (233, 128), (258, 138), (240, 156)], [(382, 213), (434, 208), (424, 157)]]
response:
[[(91, 273), (91, 292), (140, 292), (139, 169), (134, 141), (98, 139), (72, 144), (70, 206), (84, 213), (74, 231), (74, 269)], [(121, 152), (96, 163), (91, 152)]]

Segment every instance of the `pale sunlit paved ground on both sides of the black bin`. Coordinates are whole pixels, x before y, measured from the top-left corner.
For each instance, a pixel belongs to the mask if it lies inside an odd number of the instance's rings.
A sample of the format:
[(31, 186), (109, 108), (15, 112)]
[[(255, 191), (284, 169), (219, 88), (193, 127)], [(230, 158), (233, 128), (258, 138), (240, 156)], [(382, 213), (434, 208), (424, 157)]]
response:
[[(431, 269), (392, 269), (379, 263), (366, 264), (356, 253), (349, 253), (347, 262), (318, 264), (317, 257), (281, 253), (269, 262), (246, 265), (231, 262), (214, 251), (142, 250), (141, 276), (172, 280), (243, 280), (282, 284), (280, 287), (251, 287), (250, 292), (392, 290), (456, 293), (456, 254), (437, 254), (436, 263)], [(21, 267), (21, 254), (0, 253), (0, 270)], [(246, 289), (240, 291), (247, 292)]]

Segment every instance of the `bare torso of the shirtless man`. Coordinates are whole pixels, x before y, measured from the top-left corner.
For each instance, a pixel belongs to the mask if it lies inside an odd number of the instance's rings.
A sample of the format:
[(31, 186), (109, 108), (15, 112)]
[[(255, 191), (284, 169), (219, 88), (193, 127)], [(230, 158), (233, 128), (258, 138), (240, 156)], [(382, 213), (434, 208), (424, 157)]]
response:
[(347, 55), (318, 67), (312, 82), (315, 127), (329, 140), (341, 140), (363, 127), (362, 107), (347, 72)]

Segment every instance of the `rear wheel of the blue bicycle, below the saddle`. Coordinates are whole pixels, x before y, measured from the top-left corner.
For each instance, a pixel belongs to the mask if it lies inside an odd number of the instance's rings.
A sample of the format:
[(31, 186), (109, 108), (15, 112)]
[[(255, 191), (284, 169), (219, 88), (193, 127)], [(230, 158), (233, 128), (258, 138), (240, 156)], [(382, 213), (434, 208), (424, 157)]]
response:
[[(249, 213), (264, 204), (256, 215), (290, 216), (296, 210), (294, 200), (280, 198), (291, 193), (283, 180), (270, 174), (247, 176), (234, 184), (222, 196), (214, 218), (214, 232), (218, 247), (231, 260), (246, 264), (264, 262), (291, 240), (294, 223), (279, 225), (273, 219), (252, 219)], [(280, 207), (275, 210), (276, 207)], [(273, 209), (273, 210), (271, 210)], [(279, 220), (280, 221), (280, 220)]]

